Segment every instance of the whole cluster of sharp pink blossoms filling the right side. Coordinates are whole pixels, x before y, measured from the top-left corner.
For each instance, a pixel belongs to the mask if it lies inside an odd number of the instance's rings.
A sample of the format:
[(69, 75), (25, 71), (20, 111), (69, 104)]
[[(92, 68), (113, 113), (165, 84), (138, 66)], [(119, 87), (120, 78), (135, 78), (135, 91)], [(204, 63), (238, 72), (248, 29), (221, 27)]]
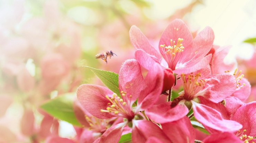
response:
[[(223, 63), (229, 47), (213, 45), (210, 27), (193, 38), (182, 20), (172, 21), (160, 53), (136, 26), (129, 33), (135, 59), (120, 68), (120, 93), (92, 84), (77, 89), (78, 141), (118, 143), (128, 133), (134, 143), (256, 141), (256, 102), (244, 102), (250, 84), (241, 71), (230, 72), (235, 63)], [(174, 98), (177, 86), (183, 90)]]

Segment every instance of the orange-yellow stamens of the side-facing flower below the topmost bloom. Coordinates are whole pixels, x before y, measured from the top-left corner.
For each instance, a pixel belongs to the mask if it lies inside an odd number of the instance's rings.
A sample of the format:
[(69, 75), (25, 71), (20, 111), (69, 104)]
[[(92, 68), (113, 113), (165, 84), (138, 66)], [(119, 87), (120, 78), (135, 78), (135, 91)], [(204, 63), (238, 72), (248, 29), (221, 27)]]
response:
[(184, 87), (184, 99), (192, 100), (194, 95), (203, 89), (205, 80), (199, 79), (200, 76), (201, 73), (198, 73), (195, 76), (191, 73), (188, 75), (188, 78), (186, 78), (185, 74), (181, 74)]

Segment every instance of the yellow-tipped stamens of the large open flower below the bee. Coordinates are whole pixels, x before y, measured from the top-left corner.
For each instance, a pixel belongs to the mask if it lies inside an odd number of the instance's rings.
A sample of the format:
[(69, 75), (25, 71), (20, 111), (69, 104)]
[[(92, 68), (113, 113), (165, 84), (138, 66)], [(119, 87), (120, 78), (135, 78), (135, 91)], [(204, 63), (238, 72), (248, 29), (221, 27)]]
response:
[(114, 116), (124, 117), (128, 120), (133, 119), (134, 113), (131, 111), (130, 107), (131, 95), (128, 97), (126, 96), (126, 92), (121, 91), (121, 98), (115, 93), (112, 96), (113, 97), (111, 98), (106, 96), (106, 98), (110, 101), (108, 103), (109, 107), (107, 107), (107, 110), (101, 109), (101, 112), (109, 112)]

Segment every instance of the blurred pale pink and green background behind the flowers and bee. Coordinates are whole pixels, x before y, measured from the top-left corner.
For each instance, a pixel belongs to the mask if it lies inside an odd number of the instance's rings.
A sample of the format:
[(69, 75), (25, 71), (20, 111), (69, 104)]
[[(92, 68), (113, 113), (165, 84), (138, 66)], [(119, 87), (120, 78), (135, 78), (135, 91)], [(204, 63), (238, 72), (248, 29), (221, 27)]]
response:
[[(82, 66), (118, 73), (134, 57), (131, 25), (156, 48), (176, 18), (194, 35), (210, 26), (214, 44), (232, 45), (224, 62), (237, 61), (252, 85), (248, 101), (255, 100), (255, 8), (255, 0), (0, 0), (0, 143), (74, 137), (70, 123), (40, 105), (75, 95), (81, 84), (102, 84)], [(117, 54), (108, 64), (94, 58), (108, 50)]]

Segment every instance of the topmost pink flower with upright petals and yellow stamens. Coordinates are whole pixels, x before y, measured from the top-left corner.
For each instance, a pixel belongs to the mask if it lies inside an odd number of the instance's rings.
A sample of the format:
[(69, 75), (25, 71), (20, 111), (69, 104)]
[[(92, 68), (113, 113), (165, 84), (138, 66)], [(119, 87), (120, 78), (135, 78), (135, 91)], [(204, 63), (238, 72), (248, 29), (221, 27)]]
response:
[[(136, 49), (144, 50), (154, 56), (156, 61), (161, 62), (161, 56), (136, 26), (130, 29), (130, 40)], [(210, 51), (213, 40), (214, 34), (211, 28), (205, 28), (193, 39), (185, 23), (176, 19), (163, 32), (158, 48), (174, 73), (187, 74), (209, 64), (211, 56), (205, 55)]]

